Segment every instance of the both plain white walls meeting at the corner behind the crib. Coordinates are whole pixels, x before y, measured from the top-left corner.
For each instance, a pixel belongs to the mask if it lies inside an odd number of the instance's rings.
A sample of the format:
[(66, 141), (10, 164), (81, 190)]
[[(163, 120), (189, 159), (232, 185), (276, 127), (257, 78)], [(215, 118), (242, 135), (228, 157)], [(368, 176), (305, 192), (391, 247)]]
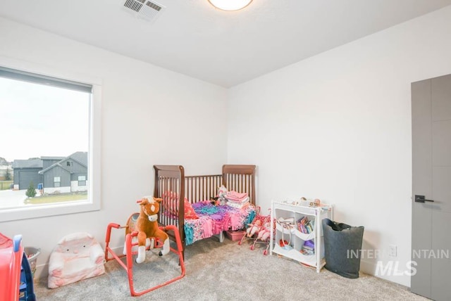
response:
[[(103, 244), (106, 225), (125, 222), (135, 200), (152, 193), (152, 165), (209, 174), (227, 159), (257, 164), (262, 208), (301, 196), (333, 203), (335, 220), (365, 226), (367, 250), (397, 245), (393, 260), (404, 271), (411, 248), (410, 83), (451, 73), (450, 27), (447, 7), (226, 91), (0, 18), (0, 65), (13, 58), (103, 81), (101, 210), (0, 222), (0, 231), (42, 248), (39, 276), (62, 236), (87, 231)], [(173, 123), (162, 131), (171, 110)], [(215, 117), (227, 110), (228, 128)], [(227, 148), (218, 147), (226, 136)], [(365, 259), (362, 269), (372, 273), (375, 264)], [(385, 278), (409, 286), (407, 276)]]

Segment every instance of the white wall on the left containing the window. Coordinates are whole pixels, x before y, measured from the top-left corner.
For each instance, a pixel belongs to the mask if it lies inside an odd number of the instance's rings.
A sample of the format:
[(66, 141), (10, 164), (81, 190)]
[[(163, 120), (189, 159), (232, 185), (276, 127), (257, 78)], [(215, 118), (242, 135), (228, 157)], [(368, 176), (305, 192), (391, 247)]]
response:
[(125, 224), (138, 209), (135, 201), (153, 193), (152, 165), (184, 165), (187, 174), (221, 173), (227, 128), (216, 116), (226, 113), (226, 89), (4, 18), (0, 41), (0, 65), (13, 59), (103, 82), (101, 210), (0, 222), (4, 235), (22, 234), (24, 245), (42, 249), (37, 276), (44, 276), (43, 264), (63, 236), (87, 231), (103, 245), (110, 222)]

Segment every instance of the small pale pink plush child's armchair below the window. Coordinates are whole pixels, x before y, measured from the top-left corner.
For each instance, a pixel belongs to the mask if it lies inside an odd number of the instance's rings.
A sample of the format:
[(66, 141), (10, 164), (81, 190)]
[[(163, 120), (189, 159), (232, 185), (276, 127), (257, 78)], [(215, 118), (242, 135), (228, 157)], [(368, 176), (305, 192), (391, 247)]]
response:
[(105, 273), (104, 250), (95, 238), (84, 232), (64, 236), (51, 252), (49, 288), (58, 288)]

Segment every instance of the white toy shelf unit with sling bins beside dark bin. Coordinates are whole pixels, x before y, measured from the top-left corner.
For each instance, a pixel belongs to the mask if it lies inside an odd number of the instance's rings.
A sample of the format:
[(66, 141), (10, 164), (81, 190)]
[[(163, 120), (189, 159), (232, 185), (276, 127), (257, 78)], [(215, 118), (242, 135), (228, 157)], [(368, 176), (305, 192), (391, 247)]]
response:
[[(292, 229), (287, 229), (281, 226), (276, 220), (283, 218), (294, 218), (295, 226)], [(302, 233), (298, 230), (297, 221), (307, 217), (314, 221), (314, 229), (311, 233)], [(315, 267), (316, 272), (319, 273), (322, 267), (326, 264), (324, 260), (323, 248), (323, 230), (321, 229), (322, 220), (328, 218), (333, 219), (333, 206), (311, 207), (309, 202), (290, 202), (290, 201), (272, 201), (271, 202), (271, 223), (276, 222), (276, 231), (271, 233), (271, 248), (270, 254), (276, 253), (292, 260), (307, 264), (310, 267)], [(271, 226), (274, 227), (274, 224)], [(289, 250), (280, 246), (280, 239), (290, 243)], [(304, 255), (300, 252), (304, 241), (314, 240), (315, 252), (312, 255)]]

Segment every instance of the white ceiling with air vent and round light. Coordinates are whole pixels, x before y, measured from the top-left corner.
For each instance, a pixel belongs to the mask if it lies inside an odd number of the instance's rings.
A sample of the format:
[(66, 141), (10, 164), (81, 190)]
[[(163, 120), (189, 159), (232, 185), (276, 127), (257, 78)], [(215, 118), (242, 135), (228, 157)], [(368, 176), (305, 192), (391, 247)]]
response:
[(207, 0), (155, 0), (166, 8), (149, 22), (124, 2), (0, 0), (0, 16), (228, 88), (451, 5), (254, 0), (228, 12)]

